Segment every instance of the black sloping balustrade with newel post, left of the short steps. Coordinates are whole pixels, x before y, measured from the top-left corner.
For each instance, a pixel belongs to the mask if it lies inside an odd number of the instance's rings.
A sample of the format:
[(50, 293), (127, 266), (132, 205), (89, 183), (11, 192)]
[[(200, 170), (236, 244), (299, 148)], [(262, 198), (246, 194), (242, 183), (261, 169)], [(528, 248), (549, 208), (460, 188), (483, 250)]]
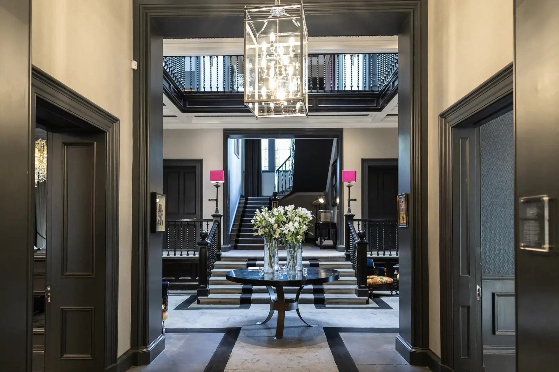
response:
[(221, 244), (219, 230), (221, 224), (219, 219), (214, 219), (209, 231), (200, 232), (198, 249), (200, 254), (200, 264), (198, 265), (198, 297), (210, 296), (210, 277), (216, 261), (221, 259)]

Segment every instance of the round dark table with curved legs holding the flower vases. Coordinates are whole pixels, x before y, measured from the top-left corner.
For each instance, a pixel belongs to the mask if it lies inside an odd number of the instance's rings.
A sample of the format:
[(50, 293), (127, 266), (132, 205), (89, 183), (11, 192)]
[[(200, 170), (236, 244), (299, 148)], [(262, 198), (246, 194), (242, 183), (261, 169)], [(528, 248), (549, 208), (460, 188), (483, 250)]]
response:
[[(337, 281), (340, 278), (340, 272), (334, 269), (327, 269), (321, 267), (309, 267), (307, 268), (307, 274), (303, 275), (302, 272), (297, 274), (287, 274), (285, 272), (278, 271), (273, 274), (260, 274), (258, 270), (249, 269), (236, 269), (231, 270), (225, 277), (235, 283), (241, 284), (252, 284), (253, 286), (263, 286), (268, 288), (268, 293), (270, 294), (270, 312), (268, 317), (263, 322), (258, 322), (257, 324), (264, 324), (269, 321), (274, 315), (274, 311), (278, 312), (278, 324), (276, 327), (276, 337), (274, 339), (281, 339), (283, 337), (283, 326), (285, 324), (285, 312), (286, 311), (297, 311), (299, 318), (309, 327), (311, 326), (307, 323), (301, 313), (299, 312), (299, 296), (303, 287), (309, 286), (311, 284), (324, 284), (328, 282)], [(274, 298), (274, 289), (276, 288), (277, 298)], [(297, 289), (297, 294), (295, 299), (285, 298), (285, 293), (283, 292), (283, 287), (299, 287)]]

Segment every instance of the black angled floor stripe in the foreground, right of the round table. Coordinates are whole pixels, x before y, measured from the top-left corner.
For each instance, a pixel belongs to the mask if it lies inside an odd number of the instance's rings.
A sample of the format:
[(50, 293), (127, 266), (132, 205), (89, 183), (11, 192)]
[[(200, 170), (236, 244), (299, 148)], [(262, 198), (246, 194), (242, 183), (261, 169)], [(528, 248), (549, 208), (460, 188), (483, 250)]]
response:
[(339, 372), (359, 372), (357, 365), (353, 361), (349, 350), (345, 347), (340, 333), (397, 333), (398, 328), (345, 328), (345, 327), (324, 327), (324, 334), (328, 340), (328, 346)]

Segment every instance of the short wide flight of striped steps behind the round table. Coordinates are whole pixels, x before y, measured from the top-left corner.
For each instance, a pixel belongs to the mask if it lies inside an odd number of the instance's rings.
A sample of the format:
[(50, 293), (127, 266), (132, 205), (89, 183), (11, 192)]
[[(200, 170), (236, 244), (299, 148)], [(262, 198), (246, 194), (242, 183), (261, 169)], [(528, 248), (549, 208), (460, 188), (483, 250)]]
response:
[[(228, 281), (225, 274), (229, 270), (263, 265), (263, 252), (247, 252), (244, 255), (234, 251), (222, 253), (222, 261), (215, 263), (210, 278), (210, 296), (198, 297), (200, 305), (250, 305), (269, 303), (270, 296), (266, 287), (239, 285)], [(355, 295), (356, 278), (351, 262), (343, 257), (305, 257), (305, 266), (318, 266), (336, 269), (340, 279), (320, 286), (306, 286), (299, 298), (302, 304), (315, 305), (366, 305), (367, 297)], [(285, 250), (280, 250), (280, 265), (285, 265)], [(287, 297), (295, 297), (298, 287), (285, 287)], [(289, 295), (291, 294), (291, 295)]]

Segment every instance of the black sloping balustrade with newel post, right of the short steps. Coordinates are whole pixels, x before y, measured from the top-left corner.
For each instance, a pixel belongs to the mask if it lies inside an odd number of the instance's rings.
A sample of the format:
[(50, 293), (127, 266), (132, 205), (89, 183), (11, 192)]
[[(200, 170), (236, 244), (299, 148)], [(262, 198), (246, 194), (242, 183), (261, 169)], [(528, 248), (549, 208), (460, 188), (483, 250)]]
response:
[(355, 270), (357, 279), (357, 286), (355, 294), (357, 297), (368, 297), (369, 290), (367, 288), (367, 245), (365, 240), (365, 231), (356, 231), (352, 221), (347, 221), (346, 241), (349, 260), (352, 263), (352, 268)]

